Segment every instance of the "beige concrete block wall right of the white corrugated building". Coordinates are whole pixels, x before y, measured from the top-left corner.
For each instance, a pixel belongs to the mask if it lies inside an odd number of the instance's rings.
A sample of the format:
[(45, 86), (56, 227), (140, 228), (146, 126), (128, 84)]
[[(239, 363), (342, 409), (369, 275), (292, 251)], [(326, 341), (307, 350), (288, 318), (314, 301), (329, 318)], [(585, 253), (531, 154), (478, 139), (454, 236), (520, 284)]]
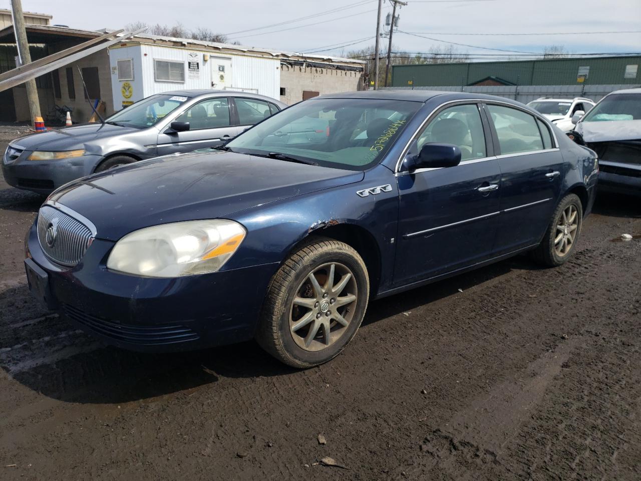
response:
[(281, 95), (280, 100), (288, 105), (300, 102), (303, 100), (303, 90), (320, 92), (320, 95), (359, 90), (362, 79), (363, 72), (281, 63), (280, 86), (285, 89), (285, 95)]

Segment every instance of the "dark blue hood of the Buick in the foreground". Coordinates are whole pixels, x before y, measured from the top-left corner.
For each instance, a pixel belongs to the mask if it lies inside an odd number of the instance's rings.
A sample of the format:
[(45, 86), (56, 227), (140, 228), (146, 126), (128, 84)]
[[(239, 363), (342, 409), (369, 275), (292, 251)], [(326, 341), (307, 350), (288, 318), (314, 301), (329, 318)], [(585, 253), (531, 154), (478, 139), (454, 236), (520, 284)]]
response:
[(358, 182), (363, 173), (229, 152), (154, 158), (85, 177), (49, 200), (87, 217), (96, 237), (215, 219), (264, 203)]

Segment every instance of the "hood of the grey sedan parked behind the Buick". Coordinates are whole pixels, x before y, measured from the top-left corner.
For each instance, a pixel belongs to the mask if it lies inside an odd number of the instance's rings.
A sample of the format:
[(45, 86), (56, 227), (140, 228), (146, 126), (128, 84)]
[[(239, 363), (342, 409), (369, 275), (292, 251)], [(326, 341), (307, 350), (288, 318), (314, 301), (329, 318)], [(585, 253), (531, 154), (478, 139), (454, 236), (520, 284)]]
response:
[(92, 140), (105, 139), (133, 131), (138, 131), (138, 129), (110, 124), (82, 124), (60, 130), (33, 133), (12, 140), (11, 144), (24, 150), (71, 150), (81, 148), (86, 142)]

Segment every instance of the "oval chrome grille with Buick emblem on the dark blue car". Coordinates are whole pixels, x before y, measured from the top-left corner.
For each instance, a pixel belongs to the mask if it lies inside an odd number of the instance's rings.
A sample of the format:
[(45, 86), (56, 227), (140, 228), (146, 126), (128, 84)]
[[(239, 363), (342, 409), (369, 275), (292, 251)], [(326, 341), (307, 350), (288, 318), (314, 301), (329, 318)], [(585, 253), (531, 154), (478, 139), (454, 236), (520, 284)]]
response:
[(78, 219), (49, 205), (38, 212), (38, 241), (54, 262), (75, 266), (93, 241), (90, 228)]

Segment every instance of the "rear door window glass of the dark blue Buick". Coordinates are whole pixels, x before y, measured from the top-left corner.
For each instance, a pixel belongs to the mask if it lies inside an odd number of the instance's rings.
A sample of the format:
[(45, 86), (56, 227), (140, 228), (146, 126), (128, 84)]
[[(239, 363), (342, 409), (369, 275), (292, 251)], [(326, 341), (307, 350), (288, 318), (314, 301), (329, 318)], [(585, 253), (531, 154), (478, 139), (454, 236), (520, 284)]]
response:
[(487, 110), (499, 137), (501, 154), (543, 150), (535, 118), (515, 108), (488, 104)]

